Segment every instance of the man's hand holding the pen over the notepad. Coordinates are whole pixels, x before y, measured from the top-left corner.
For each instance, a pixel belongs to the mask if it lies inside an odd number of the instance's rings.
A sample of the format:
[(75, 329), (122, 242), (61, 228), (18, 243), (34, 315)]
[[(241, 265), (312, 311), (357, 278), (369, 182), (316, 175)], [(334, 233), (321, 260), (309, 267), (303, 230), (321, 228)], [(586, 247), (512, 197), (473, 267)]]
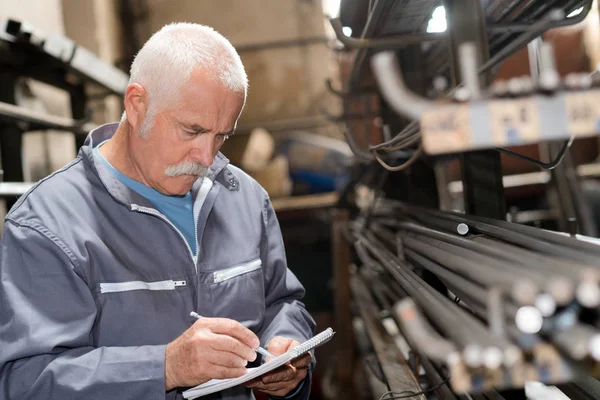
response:
[(242, 376), (248, 361), (256, 359), (258, 345), (256, 335), (237, 321), (200, 318), (167, 345), (165, 388)]

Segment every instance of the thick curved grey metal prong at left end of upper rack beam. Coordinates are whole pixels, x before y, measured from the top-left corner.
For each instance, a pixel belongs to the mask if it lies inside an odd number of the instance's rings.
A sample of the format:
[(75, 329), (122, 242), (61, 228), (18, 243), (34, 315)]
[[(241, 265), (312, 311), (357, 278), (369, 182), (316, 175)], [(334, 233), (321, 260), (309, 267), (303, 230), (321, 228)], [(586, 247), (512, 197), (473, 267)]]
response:
[(436, 106), (435, 102), (414, 94), (406, 87), (394, 52), (375, 54), (371, 58), (371, 66), (381, 94), (398, 114), (419, 119), (424, 112)]

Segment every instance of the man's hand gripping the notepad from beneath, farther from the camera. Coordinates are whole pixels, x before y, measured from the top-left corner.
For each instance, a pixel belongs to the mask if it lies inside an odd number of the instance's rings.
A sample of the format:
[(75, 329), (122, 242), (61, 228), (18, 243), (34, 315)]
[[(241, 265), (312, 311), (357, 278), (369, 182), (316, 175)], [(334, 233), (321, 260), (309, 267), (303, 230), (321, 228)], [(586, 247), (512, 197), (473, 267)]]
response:
[[(276, 336), (267, 345), (267, 350), (278, 356), (298, 346), (300, 342)], [(310, 353), (292, 360), (291, 363), (246, 383), (246, 386), (258, 389), (271, 396), (283, 397), (291, 392), (306, 377), (308, 366), (312, 361)]]

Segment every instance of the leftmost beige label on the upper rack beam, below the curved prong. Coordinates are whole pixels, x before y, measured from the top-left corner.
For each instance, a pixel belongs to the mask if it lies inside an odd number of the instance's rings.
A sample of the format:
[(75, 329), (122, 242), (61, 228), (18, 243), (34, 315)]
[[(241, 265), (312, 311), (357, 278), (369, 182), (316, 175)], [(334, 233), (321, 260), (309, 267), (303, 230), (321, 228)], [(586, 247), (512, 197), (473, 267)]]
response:
[(453, 104), (425, 112), (421, 117), (421, 134), (423, 147), (429, 154), (468, 149), (471, 145), (468, 107)]

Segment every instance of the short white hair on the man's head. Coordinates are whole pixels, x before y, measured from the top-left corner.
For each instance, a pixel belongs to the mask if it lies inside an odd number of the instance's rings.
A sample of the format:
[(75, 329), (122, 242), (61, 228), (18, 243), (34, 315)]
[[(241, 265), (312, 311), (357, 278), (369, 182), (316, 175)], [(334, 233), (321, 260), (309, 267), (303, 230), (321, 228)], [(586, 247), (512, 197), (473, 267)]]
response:
[[(131, 64), (129, 83), (140, 84), (148, 95), (142, 136), (152, 128), (160, 106), (178, 99), (181, 88), (198, 67), (215, 82), (246, 98), (248, 77), (229, 40), (205, 25), (165, 25), (148, 39)], [(123, 113), (122, 121), (126, 118)]]

